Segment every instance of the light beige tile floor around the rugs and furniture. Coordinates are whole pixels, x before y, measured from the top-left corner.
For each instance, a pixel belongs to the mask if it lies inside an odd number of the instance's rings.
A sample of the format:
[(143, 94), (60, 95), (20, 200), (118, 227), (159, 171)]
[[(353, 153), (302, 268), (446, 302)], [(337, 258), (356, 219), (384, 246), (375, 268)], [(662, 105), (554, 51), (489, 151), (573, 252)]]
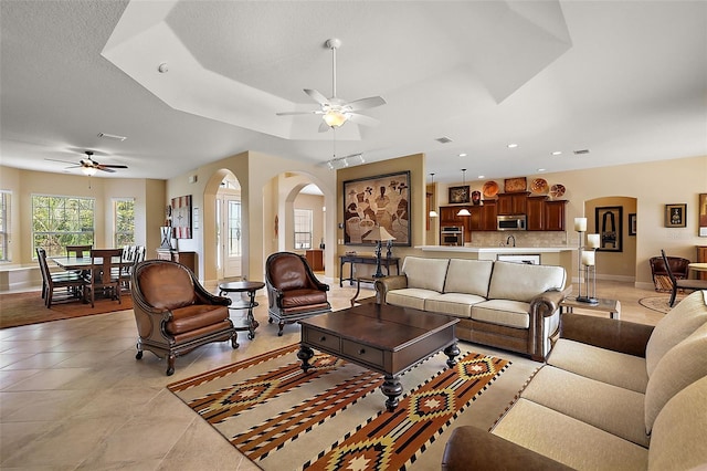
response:
[[(330, 285), (334, 308), (348, 307), (355, 290)], [(253, 341), (240, 333), (235, 350), (228, 342), (198, 348), (177, 359), (171, 377), (149, 352), (135, 359), (133, 311), (0, 331), (0, 468), (258, 469), (165, 388), (299, 341), (297, 325), (286, 325), (277, 336), (276, 325), (267, 323), (264, 290), (257, 294), (261, 326)], [(661, 320), (663, 314), (637, 303), (655, 294), (627, 283), (598, 283), (600, 297), (621, 301), (626, 321)]]

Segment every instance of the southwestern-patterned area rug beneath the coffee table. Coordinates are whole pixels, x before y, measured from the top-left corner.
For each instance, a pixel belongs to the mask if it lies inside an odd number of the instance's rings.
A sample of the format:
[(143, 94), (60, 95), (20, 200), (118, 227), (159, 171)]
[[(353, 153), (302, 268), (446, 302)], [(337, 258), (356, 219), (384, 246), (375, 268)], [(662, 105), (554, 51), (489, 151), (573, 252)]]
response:
[(446, 356), (434, 355), (400, 378), (403, 398), (388, 412), (380, 374), (317, 354), (305, 375), (298, 348), (284, 347), (168, 388), (265, 470), (428, 469), (415, 468), (421, 456), (441, 441), (436, 454), (425, 457), (439, 468), (442, 436), (510, 367), (505, 359), (463, 352), (447, 368)]

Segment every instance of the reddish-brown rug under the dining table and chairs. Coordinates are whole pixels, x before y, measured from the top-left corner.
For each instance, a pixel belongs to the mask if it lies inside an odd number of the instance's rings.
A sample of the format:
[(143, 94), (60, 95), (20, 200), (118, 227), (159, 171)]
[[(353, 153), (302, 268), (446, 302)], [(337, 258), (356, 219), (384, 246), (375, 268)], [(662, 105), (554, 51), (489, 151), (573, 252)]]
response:
[(44, 300), (42, 300), (42, 293), (39, 291), (7, 293), (0, 294), (0, 328), (131, 308), (133, 299), (125, 294), (120, 296), (120, 304), (113, 300), (96, 300), (95, 307), (91, 307), (91, 303), (84, 304), (81, 301), (72, 301), (52, 303), (52, 307), (48, 310), (44, 305)]

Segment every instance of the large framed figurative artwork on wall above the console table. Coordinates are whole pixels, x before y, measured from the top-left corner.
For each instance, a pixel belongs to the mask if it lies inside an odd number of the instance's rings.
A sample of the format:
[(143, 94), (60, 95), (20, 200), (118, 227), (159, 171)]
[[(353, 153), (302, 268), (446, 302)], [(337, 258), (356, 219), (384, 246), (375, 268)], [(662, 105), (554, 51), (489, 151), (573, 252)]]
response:
[(344, 243), (374, 244), (365, 239), (376, 226), (395, 238), (394, 245), (411, 245), (409, 170), (344, 182)]

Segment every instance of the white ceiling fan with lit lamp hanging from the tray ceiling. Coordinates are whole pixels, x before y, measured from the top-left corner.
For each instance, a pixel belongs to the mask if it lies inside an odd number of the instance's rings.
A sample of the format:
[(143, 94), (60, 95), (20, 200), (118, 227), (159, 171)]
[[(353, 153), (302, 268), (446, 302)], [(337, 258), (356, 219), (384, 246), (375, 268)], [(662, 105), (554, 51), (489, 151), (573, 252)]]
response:
[(310, 112), (283, 112), (277, 113), (277, 116), (321, 115), (324, 122), (319, 125), (319, 133), (327, 132), (329, 128), (340, 127), (349, 121), (363, 126), (376, 126), (378, 119), (361, 115), (358, 112), (384, 105), (386, 101), (380, 96), (369, 96), (368, 98), (347, 102), (336, 96), (336, 50), (341, 46), (341, 41), (338, 39), (327, 40), (326, 46), (331, 50), (331, 97), (327, 98), (316, 90), (305, 88), (305, 93), (319, 104), (320, 109), (313, 109)]

